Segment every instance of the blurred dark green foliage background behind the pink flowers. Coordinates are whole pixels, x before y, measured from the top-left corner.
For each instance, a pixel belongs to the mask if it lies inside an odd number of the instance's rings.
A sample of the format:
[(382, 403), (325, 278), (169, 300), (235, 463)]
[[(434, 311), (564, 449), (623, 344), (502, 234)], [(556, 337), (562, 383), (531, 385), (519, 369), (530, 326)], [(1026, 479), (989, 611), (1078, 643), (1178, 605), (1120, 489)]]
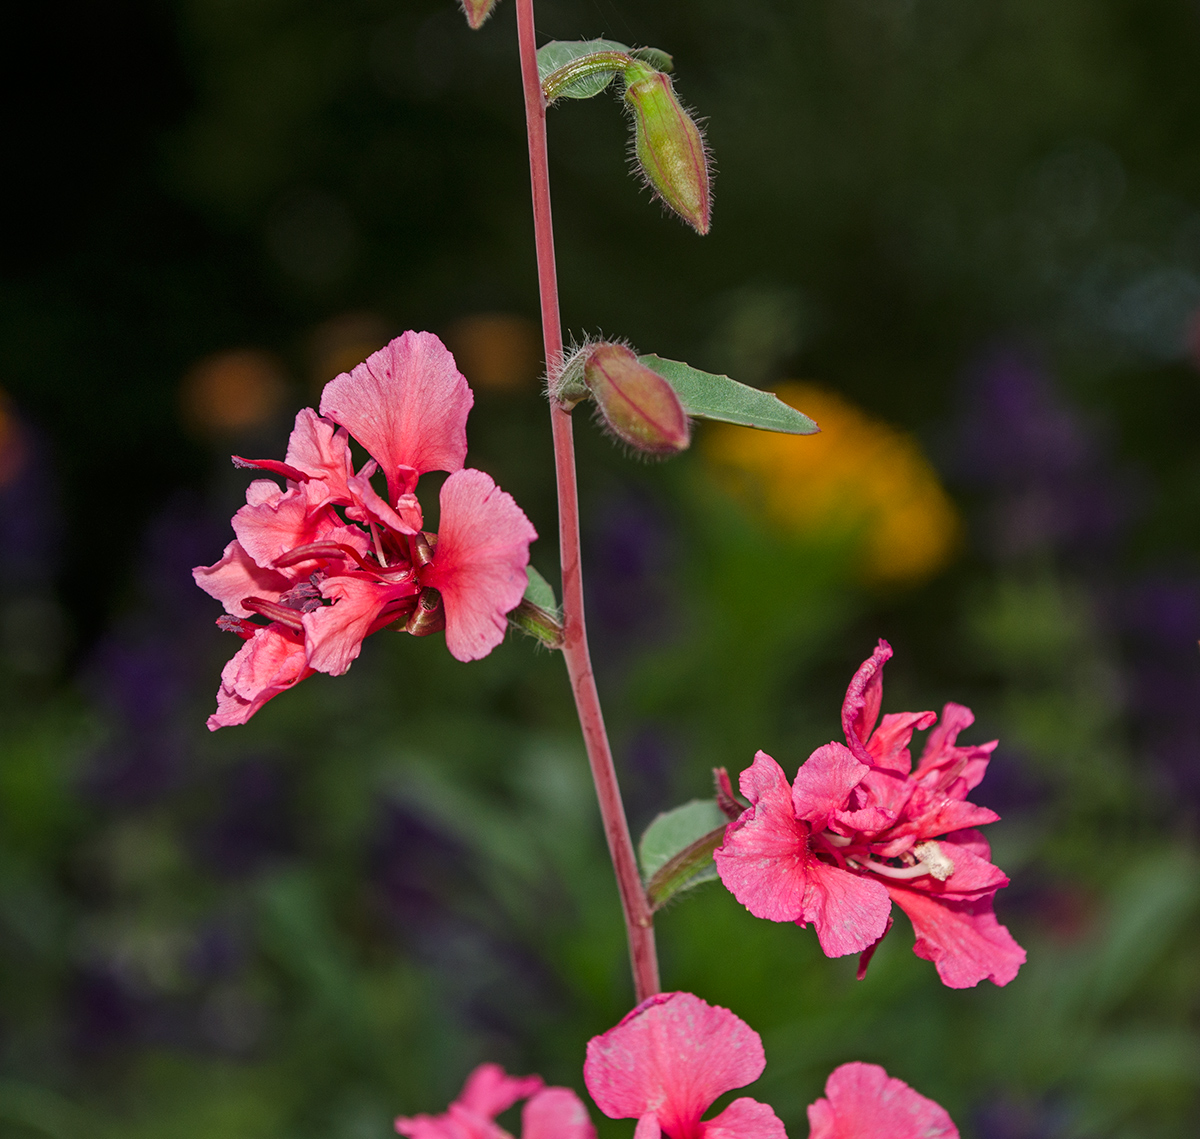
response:
[[(979, 801), (1030, 954), (1003, 990), (948, 991), (898, 928), (858, 983), (706, 885), (660, 916), (665, 983), (763, 1033), (752, 1093), (796, 1135), (852, 1059), (978, 1139), (1194, 1134), (1195, 5), (538, 11), (545, 38), (670, 50), (719, 169), (700, 240), (630, 178), (614, 102), (554, 109), (568, 328), (835, 389), (917, 433), (967, 523), (938, 579), (868, 588), (854, 535), (784, 538), (727, 497), (703, 427), (647, 467), (581, 422), (635, 827), (757, 748), (794, 769), (886, 635), (886, 711), (953, 699), (1001, 738)], [(0, 1137), (372, 1139), (485, 1059), (582, 1090), (631, 991), (557, 658), (382, 635), (210, 737), (232, 645), (187, 575), (228, 540), (228, 452), (282, 454), (332, 374), (331, 320), (466, 360), (464, 320), (534, 317), (511, 4), (478, 34), (451, 0), (19, 19), (41, 66), (6, 104), (0, 384), (32, 457), (0, 486)], [(284, 404), (187, 425), (188, 370), (244, 347)], [(470, 462), (557, 580), (536, 367), (464, 367)]]

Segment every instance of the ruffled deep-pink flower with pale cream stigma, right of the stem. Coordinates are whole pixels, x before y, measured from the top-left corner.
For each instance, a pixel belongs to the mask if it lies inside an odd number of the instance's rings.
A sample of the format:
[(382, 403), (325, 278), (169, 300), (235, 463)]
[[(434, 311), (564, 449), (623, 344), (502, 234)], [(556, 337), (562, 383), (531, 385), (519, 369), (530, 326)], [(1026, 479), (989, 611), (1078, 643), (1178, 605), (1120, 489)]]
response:
[(912, 733), (937, 717), (902, 712), (875, 726), (890, 655), (881, 641), (851, 681), (848, 747), (817, 748), (791, 787), (769, 755), (755, 756), (740, 779), (750, 807), (714, 853), (718, 873), (756, 917), (814, 925), (828, 957), (862, 953), (859, 976), (890, 929), (894, 901), (917, 933), (913, 952), (944, 984), (1007, 984), (1025, 951), (996, 921), (994, 899), (1008, 879), (974, 829), (998, 816), (966, 802), (996, 744), (959, 747), (974, 717), (948, 703), (913, 771)]

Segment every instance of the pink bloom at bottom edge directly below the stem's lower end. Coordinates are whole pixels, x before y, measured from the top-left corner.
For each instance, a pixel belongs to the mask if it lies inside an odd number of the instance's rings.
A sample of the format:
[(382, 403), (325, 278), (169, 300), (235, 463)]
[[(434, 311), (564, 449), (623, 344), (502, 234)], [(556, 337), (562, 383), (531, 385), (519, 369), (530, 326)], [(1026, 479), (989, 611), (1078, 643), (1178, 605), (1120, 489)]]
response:
[(660, 993), (588, 1042), (583, 1080), (610, 1119), (637, 1120), (634, 1139), (786, 1139), (775, 1113), (745, 1096), (701, 1120), (766, 1065), (758, 1033), (727, 1008)]

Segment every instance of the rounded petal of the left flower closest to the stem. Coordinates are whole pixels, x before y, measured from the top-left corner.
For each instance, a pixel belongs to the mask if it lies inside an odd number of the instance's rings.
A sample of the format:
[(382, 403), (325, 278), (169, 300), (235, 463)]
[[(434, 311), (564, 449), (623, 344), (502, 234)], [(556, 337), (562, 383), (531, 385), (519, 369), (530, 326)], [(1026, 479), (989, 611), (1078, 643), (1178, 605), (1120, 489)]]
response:
[(479, 660), (504, 640), (505, 616), (524, 597), (538, 532), (482, 470), (451, 474), (440, 502), (438, 541), (421, 583), (442, 593), (450, 654)]

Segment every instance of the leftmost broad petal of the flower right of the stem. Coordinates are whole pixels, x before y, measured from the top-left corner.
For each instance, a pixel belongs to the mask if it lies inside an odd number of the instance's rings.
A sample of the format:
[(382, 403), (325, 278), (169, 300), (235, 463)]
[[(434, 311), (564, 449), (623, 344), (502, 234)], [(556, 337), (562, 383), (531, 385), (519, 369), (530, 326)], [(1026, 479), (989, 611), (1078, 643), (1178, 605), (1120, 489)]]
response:
[(755, 917), (794, 922), (804, 913), (809, 827), (796, 817), (792, 789), (766, 751), (742, 773), (750, 807), (725, 829), (713, 858), (725, 888)]

